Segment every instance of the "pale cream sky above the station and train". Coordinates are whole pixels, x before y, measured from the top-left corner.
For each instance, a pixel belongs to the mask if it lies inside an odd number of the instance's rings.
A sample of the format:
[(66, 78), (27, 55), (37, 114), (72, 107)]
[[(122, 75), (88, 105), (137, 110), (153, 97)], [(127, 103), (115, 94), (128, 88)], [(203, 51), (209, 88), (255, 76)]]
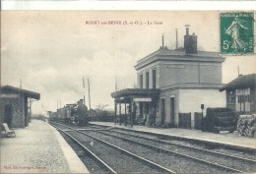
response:
[[(103, 24), (109, 21), (134, 24)], [(198, 35), (200, 50), (220, 52), (218, 11), (2, 11), (1, 86), (22, 82), (39, 92), (32, 112), (45, 113), (84, 94), (88, 104), (82, 80), (89, 78), (92, 108), (113, 109), (115, 82), (118, 89), (134, 87), (136, 62), (160, 48), (162, 33), (174, 48), (178, 29), (183, 46), (185, 25)], [(238, 66), (240, 74), (256, 73), (255, 56), (225, 56), (224, 84), (237, 77)]]

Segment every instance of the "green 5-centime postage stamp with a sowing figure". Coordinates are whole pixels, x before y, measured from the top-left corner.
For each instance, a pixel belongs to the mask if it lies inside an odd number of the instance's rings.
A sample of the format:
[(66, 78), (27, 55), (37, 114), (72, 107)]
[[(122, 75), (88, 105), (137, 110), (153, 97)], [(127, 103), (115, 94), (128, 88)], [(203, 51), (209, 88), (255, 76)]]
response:
[(254, 53), (254, 14), (221, 13), (221, 54)]

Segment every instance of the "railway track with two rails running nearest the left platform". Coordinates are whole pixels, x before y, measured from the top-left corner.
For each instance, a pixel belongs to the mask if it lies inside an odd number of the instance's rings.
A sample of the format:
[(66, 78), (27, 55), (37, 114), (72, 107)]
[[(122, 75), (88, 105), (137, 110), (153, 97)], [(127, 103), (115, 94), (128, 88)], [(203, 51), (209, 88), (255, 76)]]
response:
[[(97, 159), (97, 162), (104, 165), (105, 168), (108, 168), (110, 173), (174, 173), (170, 169), (162, 167), (153, 161), (143, 158), (119, 146), (111, 145), (94, 136), (81, 134), (76, 129), (72, 130), (72, 128), (61, 124), (54, 123), (52, 125), (58, 131), (62, 132), (62, 134), (68, 136), (70, 140), (75, 142), (77, 145), (83, 147), (85, 151), (90, 152), (90, 154)], [(68, 130), (65, 129), (62, 131), (57, 125), (62, 128), (66, 127)], [(69, 133), (66, 133), (67, 131)], [(99, 172), (96, 171), (96, 173)]]

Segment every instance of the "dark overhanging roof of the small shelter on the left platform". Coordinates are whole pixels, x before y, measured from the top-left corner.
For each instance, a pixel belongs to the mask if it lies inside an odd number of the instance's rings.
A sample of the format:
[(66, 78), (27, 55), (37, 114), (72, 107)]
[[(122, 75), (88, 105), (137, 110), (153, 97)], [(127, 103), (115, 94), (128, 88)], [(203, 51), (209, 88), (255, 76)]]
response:
[(2, 86), (0, 87), (1, 93), (16, 93), (20, 94), (23, 93), (25, 96), (33, 99), (40, 99), (40, 93), (34, 92), (32, 90), (27, 90), (19, 87), (12, 87), (12, 86)]

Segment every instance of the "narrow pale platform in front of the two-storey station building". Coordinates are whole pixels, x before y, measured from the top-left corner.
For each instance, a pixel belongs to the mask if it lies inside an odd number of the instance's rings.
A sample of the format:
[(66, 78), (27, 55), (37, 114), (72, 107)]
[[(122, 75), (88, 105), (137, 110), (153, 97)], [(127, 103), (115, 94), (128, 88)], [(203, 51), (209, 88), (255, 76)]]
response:
[(238, 133), (214, 134), (214, 133), (202, 132), (200, 130), (193, 130), (193, 129), (189, 130), (189, 129), (179, 129), (179, 128), (157, 128), (157, 127), (147, 127), (147, 126), (137, 126), (137, 125), (134, 125), (131, 128), (130, 125), (124, 126), (124, 124), (122, 124), (120, 126), (119, 123), (114, 124), (110, 122), (90, 122), (90, 124), (136, 130), (141, 132), (151, 132), (155, 134), (162, 134), (162, 135), (173, 136), (173, 137), (199, 140), (199, 141), (210, 142), (215, 144), (238, 146), (242, 148), (251, 148), (256, 150), (255, 138), (240, 137)]

